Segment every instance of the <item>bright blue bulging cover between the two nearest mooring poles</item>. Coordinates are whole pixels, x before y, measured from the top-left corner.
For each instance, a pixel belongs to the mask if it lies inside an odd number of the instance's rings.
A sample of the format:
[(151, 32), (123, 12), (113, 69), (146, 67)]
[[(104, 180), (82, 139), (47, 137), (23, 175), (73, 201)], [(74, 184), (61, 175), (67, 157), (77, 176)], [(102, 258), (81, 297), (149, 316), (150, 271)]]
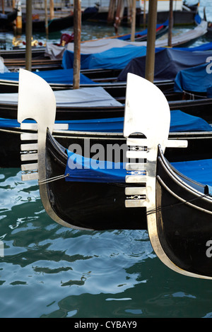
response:
[[(134, 57), (146, 55), (146, 46), (126, 45), (107, 51), (81, 54), (81, 69), (124, 69)], [(62, 59), (64, 69), (73, 68), (73, 52), (66, 49)]]

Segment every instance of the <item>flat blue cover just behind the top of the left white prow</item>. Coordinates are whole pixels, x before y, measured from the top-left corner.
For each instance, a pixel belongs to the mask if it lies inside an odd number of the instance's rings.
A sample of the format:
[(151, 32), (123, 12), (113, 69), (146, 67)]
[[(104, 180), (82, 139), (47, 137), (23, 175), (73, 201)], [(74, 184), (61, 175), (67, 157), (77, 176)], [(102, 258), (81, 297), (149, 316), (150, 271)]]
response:
[[(73, 69), (55, 69), (52, 71), (35, 71), (36, 75), (42, 77), (48, 83), (73, 83)], [(18, 81), (19, 73), (0, 73), (0, 80)], [(80, 74), (81, 84), (93, 84), (94, 82), (82, 73)]]

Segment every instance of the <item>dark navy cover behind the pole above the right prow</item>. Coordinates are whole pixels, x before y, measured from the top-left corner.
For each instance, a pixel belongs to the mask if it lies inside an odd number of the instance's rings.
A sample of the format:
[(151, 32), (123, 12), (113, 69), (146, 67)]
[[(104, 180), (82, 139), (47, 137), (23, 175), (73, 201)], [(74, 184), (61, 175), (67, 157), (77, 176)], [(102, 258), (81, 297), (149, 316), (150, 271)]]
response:
[[(206, 64), (206, 59), (211, 52), (188, 52), (184, 49), (160, 48), (155, 49), (155, 72), (154, 80), (175, 80), (177, 73), (181, 70)], [(145, 77), (146, 55), (134, 57), (129, 64), (119, 73), (118, 81), (126, 81), (127, 73), (134, 73)]]

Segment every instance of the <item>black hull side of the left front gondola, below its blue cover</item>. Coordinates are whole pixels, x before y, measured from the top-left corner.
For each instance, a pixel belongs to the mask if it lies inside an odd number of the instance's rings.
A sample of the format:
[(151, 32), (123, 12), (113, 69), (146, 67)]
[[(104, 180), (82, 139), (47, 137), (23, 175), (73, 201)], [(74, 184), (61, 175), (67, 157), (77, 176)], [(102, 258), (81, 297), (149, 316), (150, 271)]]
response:
[[(46, 142), (47, 177), (65, 173), (67, 155), (51, 134)], [(114, 230), (147, 229), (146, 208), (125, 208), (125, 184), (66, 182), (47, 183), (49, 202), (61, 220), (71, 227)]]

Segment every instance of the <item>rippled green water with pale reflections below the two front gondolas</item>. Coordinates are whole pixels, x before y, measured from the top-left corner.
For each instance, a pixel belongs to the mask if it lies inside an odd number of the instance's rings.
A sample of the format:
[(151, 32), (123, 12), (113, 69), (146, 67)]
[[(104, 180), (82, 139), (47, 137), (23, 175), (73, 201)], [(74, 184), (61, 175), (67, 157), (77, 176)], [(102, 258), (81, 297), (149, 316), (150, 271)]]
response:
[(62, 227), (16, 169), (0, 171), (0, 223), (1, 317), (211, 316), (211, 282), (167, 269), (146, 231)]

